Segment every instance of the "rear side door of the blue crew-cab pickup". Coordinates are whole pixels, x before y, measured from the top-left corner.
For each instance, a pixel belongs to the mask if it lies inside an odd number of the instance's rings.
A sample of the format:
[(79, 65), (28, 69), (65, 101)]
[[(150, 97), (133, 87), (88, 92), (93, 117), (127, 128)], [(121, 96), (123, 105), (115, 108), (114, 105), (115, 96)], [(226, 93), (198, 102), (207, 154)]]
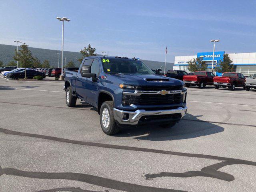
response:
[[(84, 60), (83, 65), (91, 65), (93, 59)], [(82, 68), (81, 68), (82, 69)], [(76, 94), (84, 101), (88, 100), (88, 78), (81, 76), (81, 69), (76, 74)]]

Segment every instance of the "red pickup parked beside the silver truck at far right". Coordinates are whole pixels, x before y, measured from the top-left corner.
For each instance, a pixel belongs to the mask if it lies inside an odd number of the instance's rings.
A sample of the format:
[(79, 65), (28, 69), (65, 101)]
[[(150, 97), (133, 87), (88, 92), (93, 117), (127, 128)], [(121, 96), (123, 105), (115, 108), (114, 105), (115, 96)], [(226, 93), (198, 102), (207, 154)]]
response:
[(234, 90), (236, 87), (245, 89), (245, 77), (241, 73), (226, 72), (222, 74), (222, 77), (214, 77), (213, 84), (216, 89), (220, 87), (228, 87), (230, 90)]

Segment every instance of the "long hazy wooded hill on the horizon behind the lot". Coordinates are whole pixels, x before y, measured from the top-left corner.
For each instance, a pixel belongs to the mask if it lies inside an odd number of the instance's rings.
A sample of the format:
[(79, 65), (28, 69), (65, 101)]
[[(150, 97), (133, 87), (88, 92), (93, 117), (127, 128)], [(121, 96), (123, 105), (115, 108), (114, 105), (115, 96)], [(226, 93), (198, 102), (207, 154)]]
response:
[[(0, 44), (0, 61), (4, 62), (4, 65), (8, 64), (8, 62), (14, 60), (12, 57), (14, 56), (14, 50), (17, 49), (17, 46), (14, 45), (3, 45)], [(34, 57), (37, 57), (41, 63), (44, 60), (48, 60), (50, 62), (50, 66), (58, 67), (58, 55), (57, 53), (61, 53), (60, 50), (51, 50), (51, 49), (41, 49), (29, 47)], [(79, 52), (71, 52), (64, 51), (64, 57), (66, 57), (66, 64), (69, 61), (73, 61), (76, 66), (79, 66), (80, 63), (77, 61), (78, 58), (81, 58), (82, 55)], [(149, 61), (149, 60), (141, 60), (151, 69), (158, 69), (162, 66), (162, 70), (164, 70), (164, 62), (160, 61)], [(61, 65), (61, 55), (60, 55), (60, 65)], [(173, 63), (166, 63), (166, 70), (170, 70), (173, 67)]]

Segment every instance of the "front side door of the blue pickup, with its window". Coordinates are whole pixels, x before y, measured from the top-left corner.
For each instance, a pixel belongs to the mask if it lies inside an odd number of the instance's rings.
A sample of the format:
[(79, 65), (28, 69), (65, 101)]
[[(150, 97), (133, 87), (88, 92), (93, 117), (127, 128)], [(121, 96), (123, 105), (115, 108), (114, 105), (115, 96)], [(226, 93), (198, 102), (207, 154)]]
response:
[[(91, 73), (95, 73), (98, 78), (100, 72), (100, 62), (98, 59), (94, 59), (91, 66)], [(88, 78), (88, 102), (90, 102), (93, 106), (97, 106), (96, 95), (99, 89), (99, 81), (100, 80), (97, 80), (97, 82), (93, 82), (92, 78)]]

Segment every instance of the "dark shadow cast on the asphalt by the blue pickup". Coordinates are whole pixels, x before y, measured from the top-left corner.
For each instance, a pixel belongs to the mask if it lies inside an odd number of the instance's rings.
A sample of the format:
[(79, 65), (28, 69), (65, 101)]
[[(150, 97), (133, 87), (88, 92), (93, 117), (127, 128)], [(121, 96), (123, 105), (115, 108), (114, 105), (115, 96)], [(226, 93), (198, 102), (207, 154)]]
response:
[(172, 128), (161, 128), (157, 124), (150, 126), (121, 128), (117, 137), (133, 137), (137, 140), (166, 141), (196, 138), (223, 132), (224, 128), (209, 122), (198, 120), (199, 116), (187, 114)]

